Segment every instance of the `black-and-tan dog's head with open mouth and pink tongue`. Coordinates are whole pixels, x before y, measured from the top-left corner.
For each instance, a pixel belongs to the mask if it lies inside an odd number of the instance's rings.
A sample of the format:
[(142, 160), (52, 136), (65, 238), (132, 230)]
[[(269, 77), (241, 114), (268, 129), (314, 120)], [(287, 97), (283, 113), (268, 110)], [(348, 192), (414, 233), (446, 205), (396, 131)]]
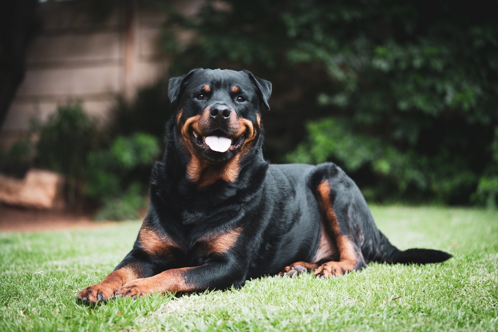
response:
[(249, 152), (261, 130), (261, 104), (269, 110), (270, 94), (271, 83), (246, 70), (194, 69), (169, 80), (169, 99), (178, 102), (177, 133), (194, 182), (210, 165), (233, 167)]

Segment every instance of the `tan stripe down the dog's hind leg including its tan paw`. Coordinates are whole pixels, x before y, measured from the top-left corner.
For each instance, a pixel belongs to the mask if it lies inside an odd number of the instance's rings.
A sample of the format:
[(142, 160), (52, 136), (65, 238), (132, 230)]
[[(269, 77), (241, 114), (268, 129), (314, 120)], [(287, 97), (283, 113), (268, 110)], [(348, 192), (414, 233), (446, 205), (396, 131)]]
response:
[(318, 199), (325, 214), (326, 221), (332, 232), (337, 248), (339, 250), (339, 262), (330, 261), (320, 266), (315, 274), (322, 274), (326, 277), (331, 275), (342, 275), (348, 271), (352, 271), (359, 263), (355, 252), (353, 241), (347, 236), (341, 234), (337, 216), (332, 207), (330, 200), (330, 184), (328, 180), (324, 180), (318, 186)]

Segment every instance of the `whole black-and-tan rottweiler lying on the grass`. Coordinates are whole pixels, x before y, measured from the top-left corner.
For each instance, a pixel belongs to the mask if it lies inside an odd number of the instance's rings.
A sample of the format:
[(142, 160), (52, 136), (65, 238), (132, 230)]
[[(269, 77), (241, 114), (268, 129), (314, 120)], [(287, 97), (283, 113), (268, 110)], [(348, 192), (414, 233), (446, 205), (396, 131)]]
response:
[(133, 249), (78, 301), (226, 289), (306, 271), (326, 278), (369, 262), (451, 257), (394, 247), (337, 165), (264, 160), (261, 105), (269, 110), (270, 94), (271, 83), (247, 70), (194, 69), (170, 79), (177, 112), (152, 170), (147, 216)]

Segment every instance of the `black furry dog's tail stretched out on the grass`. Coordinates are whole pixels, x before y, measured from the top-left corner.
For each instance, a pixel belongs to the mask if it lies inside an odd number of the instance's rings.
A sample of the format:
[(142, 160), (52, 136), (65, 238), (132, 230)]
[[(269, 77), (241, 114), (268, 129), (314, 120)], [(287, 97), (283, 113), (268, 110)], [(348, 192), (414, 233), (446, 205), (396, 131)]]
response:
[(428, 264), (440, 263), (450, 259), (453, 255), (434, 249), (412, 248), (399, 250), (393, 246), (384, 234), (380, 233), (382, 253), (380, 261), (389, 264)]

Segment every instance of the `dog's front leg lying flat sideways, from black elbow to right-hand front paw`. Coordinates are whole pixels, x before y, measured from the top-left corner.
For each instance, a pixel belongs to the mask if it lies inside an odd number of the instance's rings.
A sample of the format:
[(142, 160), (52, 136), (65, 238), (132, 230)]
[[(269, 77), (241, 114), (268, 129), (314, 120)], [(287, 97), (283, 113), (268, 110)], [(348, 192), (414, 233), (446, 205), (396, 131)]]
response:
[(124, 285), (116, 296), (225, 289), (232, 285), (242, 285), (244, 277), (240, 266), (226, 262), (208, 262), (201, 266), (170, 269), (149, 278), (133, 280)]

